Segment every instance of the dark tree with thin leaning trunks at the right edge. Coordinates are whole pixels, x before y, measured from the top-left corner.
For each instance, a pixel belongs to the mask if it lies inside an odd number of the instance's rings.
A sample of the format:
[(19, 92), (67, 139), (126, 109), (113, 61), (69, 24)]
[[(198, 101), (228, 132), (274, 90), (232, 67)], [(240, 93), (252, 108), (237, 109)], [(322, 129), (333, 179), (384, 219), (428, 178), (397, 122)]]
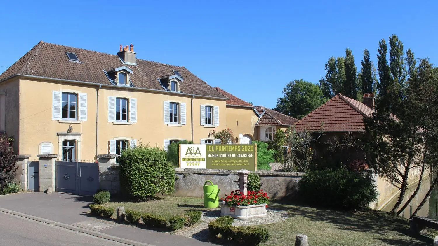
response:
[[(386, 69), (384, 62), (380, 65)], [(383, 75), (388, 77), (385, 70)], [(431, 64), (428, 60), (422, 60), (417, 76), (410, 79), (406, 97), (397, 97), (398, 88), (389, 84), (387, 90), (377, 97), (376, 111), (372, 117), (364, 120), (367, 135), (364, 142), (370, 154), (369, 163), (374, 165), (381, 177), (385, 177), (400, 191), (392, 212), (403, 212), (417, 195), (424, 170), (437, 165), (437, 88), (438, 78), (434, 76)], [(391, 107), (387, 106), (388, 103)], [(413, 176), (412, 171), (418, 168), (420, 182), (408, 201), (398, 210), (406, 195), (408, 180)], [(435, 181), (433, 184), (436, 184)]]

